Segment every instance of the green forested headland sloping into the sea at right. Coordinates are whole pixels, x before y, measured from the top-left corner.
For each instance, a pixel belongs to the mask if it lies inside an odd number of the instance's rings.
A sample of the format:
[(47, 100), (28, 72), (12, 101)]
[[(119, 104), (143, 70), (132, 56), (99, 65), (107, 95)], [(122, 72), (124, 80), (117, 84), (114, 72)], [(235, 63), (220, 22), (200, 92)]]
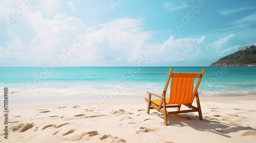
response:
[(256, 46), (240, 47), (237, 52), (220, 58), (210, 66), (256, 66)]

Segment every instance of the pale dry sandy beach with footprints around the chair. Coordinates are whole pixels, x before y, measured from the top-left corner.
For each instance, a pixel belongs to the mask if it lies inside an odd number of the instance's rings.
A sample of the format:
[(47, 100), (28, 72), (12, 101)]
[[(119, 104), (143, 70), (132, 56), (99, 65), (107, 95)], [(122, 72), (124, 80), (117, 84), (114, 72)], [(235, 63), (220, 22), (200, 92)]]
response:
[[(255, 142), (255, 95), (201, 97), (200, 100), (203, 121), (197, 112), (169, 115), (168, 126), (164, 126), (163, 115), (156, 110), (146, 113), (143, 100), (112, 100), (105, 105), (99, 105), (99, 101), (10, 105), (8, 139), (2, 133), (1, 140)], [(0, 120), (4, 121), (4, 116)]]

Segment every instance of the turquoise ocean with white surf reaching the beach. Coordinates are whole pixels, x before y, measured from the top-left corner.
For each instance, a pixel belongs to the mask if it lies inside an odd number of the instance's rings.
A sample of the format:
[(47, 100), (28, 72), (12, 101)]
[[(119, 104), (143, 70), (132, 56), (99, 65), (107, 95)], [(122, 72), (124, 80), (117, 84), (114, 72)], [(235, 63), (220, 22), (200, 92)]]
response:
[[(161, 93), (170, 67), (0, 67), (0, 88), (16, 94)], [(255, 93), (256, 66), (173, 67), (173, 73), (205, 74), (199, 92)], [(196, 84), (196, 82), (195, 82)]]

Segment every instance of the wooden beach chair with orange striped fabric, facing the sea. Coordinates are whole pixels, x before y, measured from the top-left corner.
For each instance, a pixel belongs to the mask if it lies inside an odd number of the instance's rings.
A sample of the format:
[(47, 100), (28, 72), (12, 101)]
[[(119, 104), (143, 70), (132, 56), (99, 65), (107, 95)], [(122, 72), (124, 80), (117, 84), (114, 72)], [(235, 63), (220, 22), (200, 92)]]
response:
[[(202, 69), (201, 74), (197, 73), (172, 73), (173, 68), (170, 68), (169, 74), (164, 86), (162, 96), (158, 96), (155, 93), (147, 92), (148, 99), (145, 98), (147, 105), (147, 113), (150, 113), (150, 109), (156, 109), (158, 112), (164, 115), (164, 125), (167, 126), (167, 115), (178, 114), (178, 113), (188, 113), (188, 112), (198, 112), (199, 119), (203, 120), (201, 106), (198, 97), (198, 87), (204, 75), (204, 69)], [(166, 90), (172, 78), (170, 84), (170, 97), (165, 98)], [(199, 78), (197, 85), (193, 91), (194, 80)], [(160, 99), (151, 99), (151, 96), (155, 96)], [(197, 107), (193, 106), (193, 100), (196, 97)], [(187, 106), (188, 110), (180, 110), (181, 105)], [(177, 111), (168, 112), (166, 108), (178, 107)]]

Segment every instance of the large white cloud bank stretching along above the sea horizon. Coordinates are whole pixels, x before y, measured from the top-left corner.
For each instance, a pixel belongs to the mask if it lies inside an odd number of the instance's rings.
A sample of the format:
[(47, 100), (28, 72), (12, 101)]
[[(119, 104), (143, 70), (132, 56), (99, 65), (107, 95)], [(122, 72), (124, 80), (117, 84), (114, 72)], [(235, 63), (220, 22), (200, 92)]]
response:
[[(67, 13), (57, 13), (52, 19), (44, 18), (39, 11), (28, 11), (24, 16), (36, 34), (25, 43), (22, 36), (26, 35), (18, 35), (10, 28), (10, 33), (16, 37), (0, 47), (2, 65), (46, 66), (56, 60), (61, 66), (133, 66), (138, 65), (141, 57), (149, 58), (148, 66), (159, 63), (177, 65), (177, 61), (201, 61), (218, 56), (220, 52), (228, 53), (232, 48), (229, 50), (223, 45), (234, 37), (230, 34), (212, 44), (205, 43), (205, 36), (178, 39), (170, 36), (162, 43), (148, 43), (154, 32), (143, 31), (140, 19), (121, 18), (85, 27), (81, 19)], [(57, 53), (65, 54), (63, 50), (67, 50), (77, 37), (82, 38), (82, 43), (62, 60)], [(206, 51), (205, 46), (213, 47), (209, 51), (215, 49), (215, 52)], [(12, 57), (12, 61), (6, 60), (8, 57)]]

